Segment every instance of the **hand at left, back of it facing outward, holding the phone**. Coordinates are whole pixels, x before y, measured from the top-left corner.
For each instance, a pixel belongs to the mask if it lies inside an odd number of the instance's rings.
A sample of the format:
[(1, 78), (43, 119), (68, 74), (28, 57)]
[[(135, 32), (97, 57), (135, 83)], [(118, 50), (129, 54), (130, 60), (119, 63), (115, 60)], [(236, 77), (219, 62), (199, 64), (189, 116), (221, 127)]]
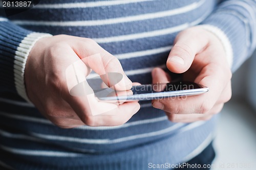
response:
[[(100, 60), (89, 56), (100, 54)], [(129, 90), (132, 82), (125, 76), (120, 62), (101, 48), (95, 41), (67, 35), (42, 38), (36, 42), (29, 54), (25, 68), (25, 83), (30, 101), (52, 123), (61, 128), (88, 126), (117, 126), (124, 124), (140, 108), (138, 102), (127, 102), (119, 106), (115, 103), (99, 102), (94, 94), (72, 96), (66, 80), (66, 69), (81, 60), (76, 68), (84, 77), (91, 69), (97, 74), (118, 72), (123, 79), (116, 90)], [(108, 79), (102, 78), (105, 84)], [(92, 89), (84, 89), (85, 91)], [(112, 109), (113, 108), (113, 109)], [(92, 116), (92, 110), (109, 110)]]

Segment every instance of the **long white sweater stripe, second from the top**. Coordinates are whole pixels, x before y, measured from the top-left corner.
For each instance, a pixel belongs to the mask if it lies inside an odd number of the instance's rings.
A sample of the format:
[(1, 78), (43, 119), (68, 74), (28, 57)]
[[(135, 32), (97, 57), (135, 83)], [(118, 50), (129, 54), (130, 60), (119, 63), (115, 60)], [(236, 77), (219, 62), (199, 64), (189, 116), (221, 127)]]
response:
[(57, 26), (57, 27), (78, 27), (78, 26), (102, 26), (111, 25), (115, 23), (133, 22), (146, 19), (155, 19), (167, 16), (173, 16), (177, 14), (186, 13), (200, 7), (205, 0), (195, 2), (193, 4), (172, 9), (168, 11), (146, 13), (134, 16), (125, 16), (111, 19), (98, 19), (98, 20), (82, 20), (82, 21), (36, 21), (36, 20), (12, 20), (17, 25), (30, 25), (30, 26)]

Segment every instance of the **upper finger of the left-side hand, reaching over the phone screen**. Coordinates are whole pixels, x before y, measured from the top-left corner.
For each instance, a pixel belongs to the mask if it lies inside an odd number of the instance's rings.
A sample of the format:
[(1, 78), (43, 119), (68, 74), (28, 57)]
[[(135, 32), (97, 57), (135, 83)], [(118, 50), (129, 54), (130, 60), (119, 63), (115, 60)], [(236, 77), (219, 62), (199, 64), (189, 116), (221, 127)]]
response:
[[(96, 74), (100, 75), (102, 81), (116, 90), (129, 90), (132, 88), (131, 80), (125, 75), (119, 60), (105, 51), (95, 41), (89, 41), (90, 45), (79, 45), (78, 56)], [(85, 49), (79, 49), (85, 48)]]

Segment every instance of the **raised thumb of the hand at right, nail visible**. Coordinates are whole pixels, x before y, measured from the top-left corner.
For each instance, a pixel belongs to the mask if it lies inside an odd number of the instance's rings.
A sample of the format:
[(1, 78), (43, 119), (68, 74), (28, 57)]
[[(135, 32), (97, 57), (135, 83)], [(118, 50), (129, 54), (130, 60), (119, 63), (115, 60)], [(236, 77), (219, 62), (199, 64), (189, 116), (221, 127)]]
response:
[(197, 28), (178, 34), (166, 62), (170, 71), (180, 74), (188, 70), (195, 56), (208, 44), (207, 38), (202, 34)]

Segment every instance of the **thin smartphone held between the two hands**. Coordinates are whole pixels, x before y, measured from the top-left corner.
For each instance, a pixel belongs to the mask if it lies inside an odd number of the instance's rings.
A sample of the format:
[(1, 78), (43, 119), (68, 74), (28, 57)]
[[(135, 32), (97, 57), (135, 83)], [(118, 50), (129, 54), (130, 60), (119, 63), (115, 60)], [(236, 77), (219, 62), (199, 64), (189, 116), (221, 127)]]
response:
[[(132, 92), (131, 92), (132, 91)], [(113, 88), (94, 89), (101, 101), (148, 101), (176, 96), (199, 95), (209, 91), (208, 87), (193, 82), (170, 82), (133, 86), (131, 90), (116, 91)]]

